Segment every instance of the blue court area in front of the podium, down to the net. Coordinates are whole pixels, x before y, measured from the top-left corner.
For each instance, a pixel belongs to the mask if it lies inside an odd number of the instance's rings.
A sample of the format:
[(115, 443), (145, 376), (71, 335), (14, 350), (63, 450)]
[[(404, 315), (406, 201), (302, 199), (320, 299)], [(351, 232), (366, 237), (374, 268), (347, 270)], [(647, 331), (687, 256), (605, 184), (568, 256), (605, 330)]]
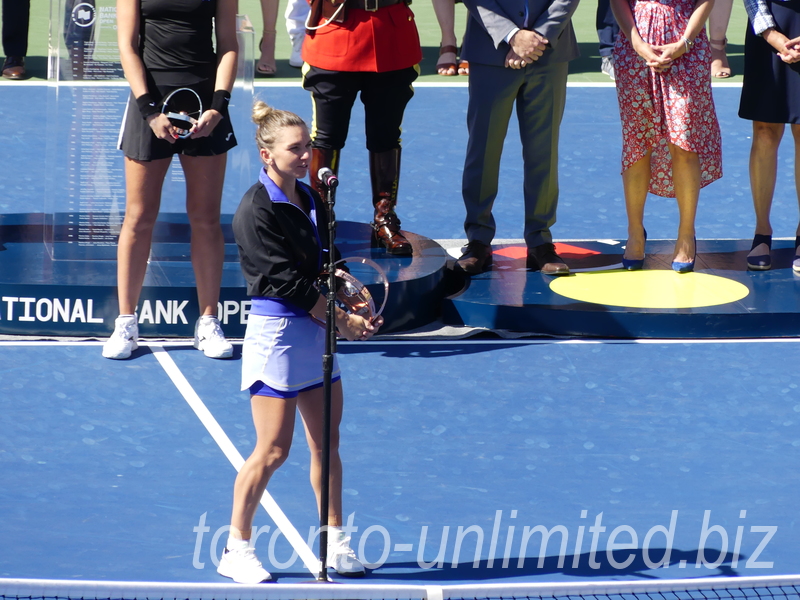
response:
[[(797, 351), (341, 344), (345, 512), (373, 568), (361, 583), (795, 572)], [(0, 356), (0, 575), (224, 581), (226, 454), (254, 442), (238, 358), (153, 344), (114, 362), (94, 343), (10, 342)], [(268, 491), (307, 539), (305, 444), (293, 452)], [(265, 512), (256, 525), (279, 581), (308, 580)]]

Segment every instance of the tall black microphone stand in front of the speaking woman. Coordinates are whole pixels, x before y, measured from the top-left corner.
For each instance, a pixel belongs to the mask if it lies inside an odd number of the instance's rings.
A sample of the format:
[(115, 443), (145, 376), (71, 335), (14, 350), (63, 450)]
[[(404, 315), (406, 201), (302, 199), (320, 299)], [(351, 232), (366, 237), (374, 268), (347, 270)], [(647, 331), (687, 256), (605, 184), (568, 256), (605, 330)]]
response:
[(336, 203), (335, 179), (323, 180), (327, 190), (326, 204), (328, 208), (328, 296), (325, 311), (325, 353), (322, 355), (322, 465), (319, 500), (319, 575), (317, 581), (328, 580), (328, 496), (330, 494), (331, 470), (331, 379), (333, 377), (333, 355), (336, 353), (336, 216), (333, 205)]

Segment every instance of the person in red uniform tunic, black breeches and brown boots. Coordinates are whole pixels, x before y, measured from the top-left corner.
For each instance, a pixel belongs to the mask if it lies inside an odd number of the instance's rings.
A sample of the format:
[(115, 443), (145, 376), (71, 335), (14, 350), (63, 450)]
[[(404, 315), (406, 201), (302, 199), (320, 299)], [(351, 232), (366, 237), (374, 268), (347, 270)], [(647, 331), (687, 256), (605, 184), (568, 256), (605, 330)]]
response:
[(303, 42), (303, 87), (314, 103), (311, 184), (324, 194), (319, 170), (338, 172), (360, 92), (375, 207), (373, 239), (392, 254), (411, 254), (395, 206), (403, 112), (422, 60), (414, 13), (404, 0), (312, 0), (312, 15), (318, 17), (312, 16), (316, 22), (309, 24)]

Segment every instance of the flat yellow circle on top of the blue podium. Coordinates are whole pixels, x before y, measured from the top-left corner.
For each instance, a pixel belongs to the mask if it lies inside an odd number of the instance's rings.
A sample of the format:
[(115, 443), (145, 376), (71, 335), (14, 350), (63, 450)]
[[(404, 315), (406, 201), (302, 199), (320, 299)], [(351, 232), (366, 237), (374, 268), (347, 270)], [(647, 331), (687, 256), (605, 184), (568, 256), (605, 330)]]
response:
[(594, 271), (558, 277), (550, 289), (561, 296), (628, 308), (699, 308), (736, 302), (746, 285), (707, 273), (674, 271)]

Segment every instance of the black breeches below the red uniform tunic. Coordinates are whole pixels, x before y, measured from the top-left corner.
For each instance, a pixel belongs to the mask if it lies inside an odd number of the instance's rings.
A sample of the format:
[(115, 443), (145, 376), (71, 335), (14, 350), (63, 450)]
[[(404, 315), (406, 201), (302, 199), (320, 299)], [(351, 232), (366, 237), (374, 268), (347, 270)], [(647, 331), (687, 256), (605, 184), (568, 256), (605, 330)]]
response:
[(406, 104), (414, 95), (416, 67), (369, 73), (326, 71), (308, 67), (303, 87), (311, 92), (314, 121), (311, 138), (315, 148), (341, 150), (350, 128), (350, 113), (361, 92), (367, 150), (386, 152), (400, 147)]

